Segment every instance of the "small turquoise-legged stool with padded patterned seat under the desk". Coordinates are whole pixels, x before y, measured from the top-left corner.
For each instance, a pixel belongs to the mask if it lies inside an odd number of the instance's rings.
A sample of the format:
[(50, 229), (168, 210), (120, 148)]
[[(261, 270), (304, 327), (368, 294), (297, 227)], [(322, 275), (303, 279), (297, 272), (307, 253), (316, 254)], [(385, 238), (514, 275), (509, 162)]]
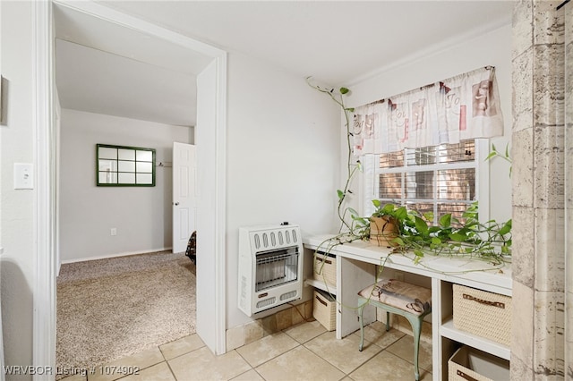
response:
[(390, 313), (406, 318), (412, 326), (414, 334), (414, 376), (419, 381), (418, 353), (420, 351), (420, 334), (422, 333), (423, 317), (432, 312), (432, 290), (397, 279), (381, 279), (361, 292), (358, 292), (358, 318), (360, 320), (360, 345), (364, 344), (363, 309), (370, 304), (386, 311), (386, 331), (390, 329)]

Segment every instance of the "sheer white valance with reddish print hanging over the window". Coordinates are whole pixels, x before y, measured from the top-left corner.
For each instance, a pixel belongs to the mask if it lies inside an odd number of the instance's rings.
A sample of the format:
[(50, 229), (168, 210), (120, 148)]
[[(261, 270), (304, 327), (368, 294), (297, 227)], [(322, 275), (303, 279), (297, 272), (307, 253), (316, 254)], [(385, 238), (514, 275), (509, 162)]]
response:
[(381, 154), (503, 134), (488, 66), (355, 108), (354, 154)]

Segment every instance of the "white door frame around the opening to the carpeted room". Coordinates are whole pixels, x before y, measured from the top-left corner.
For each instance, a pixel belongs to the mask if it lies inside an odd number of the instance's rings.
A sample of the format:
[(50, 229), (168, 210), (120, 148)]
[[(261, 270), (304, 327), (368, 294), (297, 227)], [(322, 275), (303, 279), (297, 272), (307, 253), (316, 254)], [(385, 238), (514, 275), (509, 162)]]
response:
[[(215, 192), (201, 195), (210, 198), (215, 206), (212, 211), (213, 221), (201, 229), (212, 230), (213, 240), (205, 242), (214, 251), (213, 256), (205, 256), (201, 260), (210, 260), (215, 276), (212, 286), (216, 292), (216, 301), (210, 301), (210, 306), (197, 306), (197, 309), (212, 309), (215, 316), (215, 334), (210, 343), (206, 343), (211, 351), (222, 354), (226, 351), (226, 284), (225, 284), (225, 232), (226, 232), (226, 133), (227, 131), (227, 52), (201, 43), (192, 38), (158, 27), (147, 21), (141, 21), (125, 13), (119, 13), (104, 5), (92, 2), (70, 2), (67, 0), (48, 0), (47, 2), (31, 2), (34, 30), (32, 30), (32, 49), (34, 52), (33, 99), (32, 116), (37, 142), (35, 144), (35, 164), (37, 167), (37, 199), (34, 219), (37, 222), (35, 232), (37, 239), (36, 263), (33, 286), (33, 363), (35, 365), (52, 365), (56, 368), (56, 223), (50, 211), (59, 206), (52, 196), (58, 182), (54, 167), (56, 152), (54, 142), (55, 132), (55, 92), (56, 72), (54, 70), (54, 35), (55, 21), (53, 6), (66, 6), (93, 17), (113, 21), (126, 28), (139, 30), (143, 33), (165, 39), (171, 43), (192, 49), (202, 55), (212, 58), (211, 64), (216, 69), (210, 84), (213, 87), (214, 98), (211, 100), (215, 110), (217, 123), (210, 126), (217, 149), (214, 152), (202, 152), (198, 161), (208, 165), (206, 170), (214, 174), (214, 183), (209, 184)], [(198, 152), (200, 155), (200, 152)], [(203, 165), (203, 164), (201, 164)], [(199, 227), (199, 226), (198, 226)], [(212, 316), (212, 315), (211, 315)], [(197, 326), (197, 332), (200, 332)], [(202, 328), (213, 330), (213, 327)], [(201, 334), (200, 334), (201, 335)], [(35, 375), (34, 379), (49, 379), (48, 375)]]

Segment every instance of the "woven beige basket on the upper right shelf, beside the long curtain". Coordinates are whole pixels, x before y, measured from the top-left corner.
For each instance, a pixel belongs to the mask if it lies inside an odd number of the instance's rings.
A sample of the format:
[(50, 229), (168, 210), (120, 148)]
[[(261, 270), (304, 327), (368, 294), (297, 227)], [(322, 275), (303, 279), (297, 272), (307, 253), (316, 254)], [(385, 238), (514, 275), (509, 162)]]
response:
[(511, 344), (511, 298), (453, 284), (454, 326), (507, 346)]

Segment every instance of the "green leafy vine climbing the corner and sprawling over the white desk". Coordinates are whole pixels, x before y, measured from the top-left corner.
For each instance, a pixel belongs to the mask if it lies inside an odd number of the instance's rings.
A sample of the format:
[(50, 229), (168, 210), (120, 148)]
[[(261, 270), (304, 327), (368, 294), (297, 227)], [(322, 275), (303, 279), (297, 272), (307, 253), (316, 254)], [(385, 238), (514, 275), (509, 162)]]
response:
[[(352, 241), (369, 240), (371, 238), (371, 217), (392, 216), (398, 221), (398, 232), (391, 237), (392, 252), (401, 253), (406, 257), (411, 256), (415, 264), (424, 266), (421, 259), (426, 255), (433, 255), (447, 256), (449, 258), (475, 258), (487, 261), (498, 268), (503, 267), (511, 254), (511, 220), (502, 224), (498, 224), (495, 220), (480, 223), (477, 213), (477, 201), (466, 209), (461, 221), (451, 214), (446, 214), (440, 216), (439, 224), (437, 225), (428, 223), (433, 221), (432, 213), (420, 214), (415, 210), (398, 207), (392, 203), (382, 205), (378, 199), (372, 200), (375, 207), (375, 212), (372, 216), (360, 216), (352, 207), (346, 207), (346, 199), (353, 194), (351, 185), (355, 174), (362, 171), (360, 161), (353, 162), (352, 160), (351, 139), (353, 134), (350, 131), (350, 118), (355, 109), (346, 107), (344, 102), (344, 96), (350, 90), (344, 87), (334, 89), (317, 85), (312, 83), (312, 77), (307, 77), (306, 81), (312, 89), (328, 95), (340, 106), (345, 116), (346, 144), (348, 148), (346, 182), (342, 190), (337, 190), (340, 228), (336, 235), (329, 237), (318, 245), (318, 248), (314, 251), (314, 257), (319, 253), (328, 255), (338, 245)], [(505, 154), (501, 154), (492, 145), (492, 151), (486, 160), (490, 160), (493, 157), (503, 157), (511, 163), (509, 148), (506, 148)], [(316, 258), (313, 259), (316, 260)], [(324, 261), (321, 263), (321, 267), (314, 270), (318, 275), (323, 275)], [(326, 284), (326, 279), (324, 281)]]

